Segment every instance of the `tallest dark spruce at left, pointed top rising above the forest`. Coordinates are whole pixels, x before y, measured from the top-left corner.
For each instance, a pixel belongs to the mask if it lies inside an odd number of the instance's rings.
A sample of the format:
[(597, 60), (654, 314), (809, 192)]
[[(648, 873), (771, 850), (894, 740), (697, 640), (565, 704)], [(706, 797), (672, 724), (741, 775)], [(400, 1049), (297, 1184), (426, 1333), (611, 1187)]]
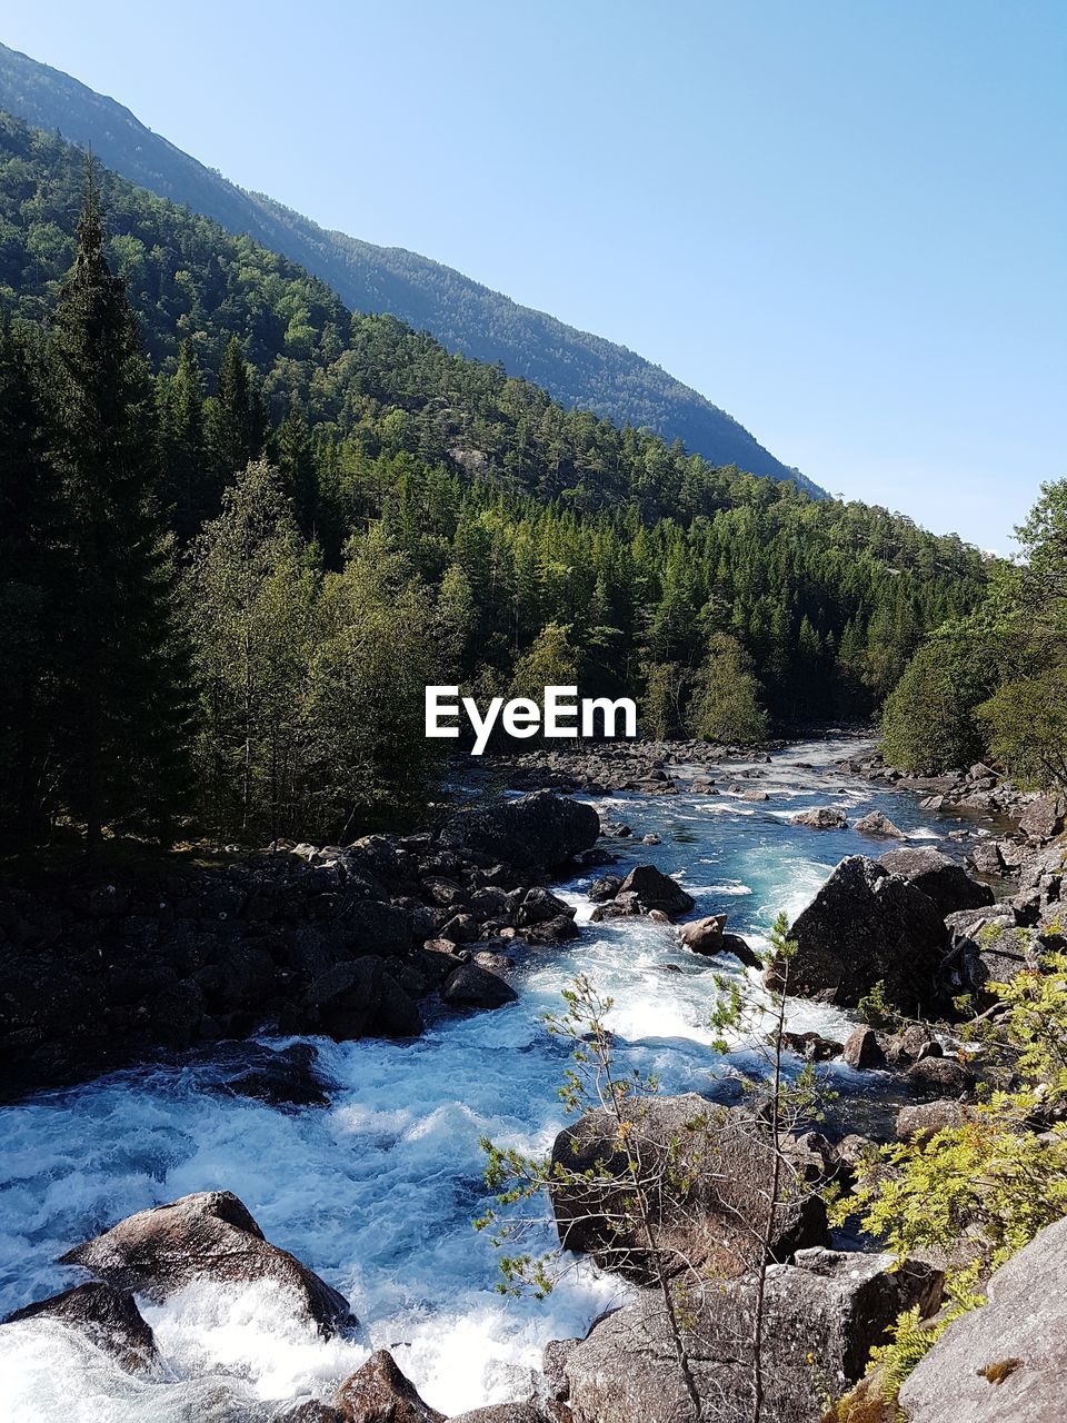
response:
[(51, 465), (73, 579), (61, 643), (63, 797), (102, 828), (162, 831), (185, 773), (182, 657), (154, 490), (152, 388), (122, 282), (104, 256), (90, 169), (53, 336)]

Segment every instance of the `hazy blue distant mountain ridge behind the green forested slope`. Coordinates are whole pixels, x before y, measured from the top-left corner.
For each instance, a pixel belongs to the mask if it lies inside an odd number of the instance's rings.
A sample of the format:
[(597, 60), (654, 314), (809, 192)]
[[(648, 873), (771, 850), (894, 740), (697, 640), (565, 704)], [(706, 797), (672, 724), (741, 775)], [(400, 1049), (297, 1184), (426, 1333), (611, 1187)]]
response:
[(327, 232), (262, 194), (245, 192), (121, 104), (3, 44), (0, 108), (60, 131), (131, 182), (290, 258), (357, 312), (388, 312), (451, 351), (499, 361), (508, 374), (543, 387), (568, 408), (647, 427), (667, 441), (681, 440), (711, 464), (791, 480), (812, 497), (825, 497), (731, 416), (626, 347), (519, 306), (418, 253)]

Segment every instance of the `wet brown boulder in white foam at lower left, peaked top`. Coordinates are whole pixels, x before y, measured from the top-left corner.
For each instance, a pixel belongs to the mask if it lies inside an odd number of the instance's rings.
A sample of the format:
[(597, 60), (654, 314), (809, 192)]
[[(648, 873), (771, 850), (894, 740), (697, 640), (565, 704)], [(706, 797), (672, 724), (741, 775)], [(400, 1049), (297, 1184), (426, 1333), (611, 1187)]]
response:
[(61, 1265), (154, 1302), (198, 1279), (246, 1285), (276, 1281), (324, 1336), (356, 1325), (347, 1299), (289, 1251), (270, 1245), (248, 1207), (230, 1191), (198, 1191), (127, 1217), (75, 1245)]

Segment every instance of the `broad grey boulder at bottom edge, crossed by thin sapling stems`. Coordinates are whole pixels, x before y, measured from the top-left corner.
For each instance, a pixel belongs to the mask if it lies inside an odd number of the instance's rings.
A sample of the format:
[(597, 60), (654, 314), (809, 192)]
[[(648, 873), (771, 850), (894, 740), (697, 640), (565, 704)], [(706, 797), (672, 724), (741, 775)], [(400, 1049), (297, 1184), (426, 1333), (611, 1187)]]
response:
[[(754, 1281), (708, 1281), (703, 1288), (684, 1281), (676, 1288), (704, 1423), (748, 1423)], [(930, 1315), (940, 1294), (940, 1271), (918, 1261), (898, 1264), (889, 1255), (808, 1249), (795, 1265), (773, 1265), (764, 1301), (761, 1417), (814, 1423), (827, 1393), (839, 1397), (862, 1376), (871, 1348), (885, 1342), (896, 1316), (915, 1306)], [(563, 1370), (575, 1423), (696, 1417), (653, 1292), (593, 1325)], [(940, 1417), (966, 1414), (949, 1409)]]

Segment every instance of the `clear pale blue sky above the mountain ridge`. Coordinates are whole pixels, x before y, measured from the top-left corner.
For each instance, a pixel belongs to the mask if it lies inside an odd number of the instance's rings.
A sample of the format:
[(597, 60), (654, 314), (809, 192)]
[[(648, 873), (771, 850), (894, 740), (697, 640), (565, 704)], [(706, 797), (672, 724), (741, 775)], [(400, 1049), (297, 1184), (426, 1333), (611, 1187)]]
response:
[(1066, 0), (34, 0), (0, 37), (834, 492), (1007, 549), (1067, 474)]

